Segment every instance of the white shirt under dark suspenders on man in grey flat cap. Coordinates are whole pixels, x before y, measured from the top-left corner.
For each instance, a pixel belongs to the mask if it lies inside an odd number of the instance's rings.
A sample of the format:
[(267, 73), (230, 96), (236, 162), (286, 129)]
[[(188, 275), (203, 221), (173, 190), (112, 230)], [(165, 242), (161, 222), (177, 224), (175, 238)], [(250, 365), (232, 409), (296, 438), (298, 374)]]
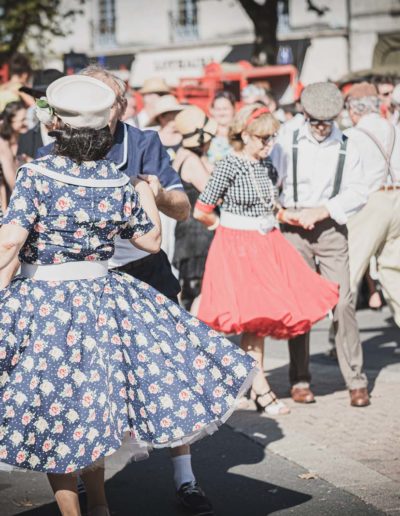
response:
[[(277, 168), (282, 186), (280, 201), (285, 208), (316, 208), (325, 206), (338, 224), (346, 224), (349, 216), (367, 201), (367, 188), (363, 177), (360, 154), (348, 141), (343, 177), (338, 195), (333, 192), (342, 132), (334, 126), (323, 142), (311, 134), (309, 125), (299, 129), (297, 153), (298, 202), (293, 198), (293, 133), (278, 139), (277, 149), (271, 157)], [(295, 205), (296, 204), (296, 205)]]

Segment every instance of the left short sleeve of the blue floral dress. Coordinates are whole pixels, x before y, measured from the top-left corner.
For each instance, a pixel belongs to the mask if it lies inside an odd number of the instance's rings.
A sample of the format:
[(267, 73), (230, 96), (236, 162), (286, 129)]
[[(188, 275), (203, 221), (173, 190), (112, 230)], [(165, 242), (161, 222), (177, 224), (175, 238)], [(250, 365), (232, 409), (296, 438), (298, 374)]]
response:
[(19, 170), (3, 224), (14, 224), (32, 231), (40, 206), (36, 181), (36, 173), (28, 167)]

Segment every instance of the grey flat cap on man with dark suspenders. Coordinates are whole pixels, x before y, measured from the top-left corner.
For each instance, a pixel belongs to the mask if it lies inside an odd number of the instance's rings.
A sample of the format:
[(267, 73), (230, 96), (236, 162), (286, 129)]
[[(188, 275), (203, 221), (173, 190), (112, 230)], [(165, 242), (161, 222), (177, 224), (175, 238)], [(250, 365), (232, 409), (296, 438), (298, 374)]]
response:
[(304, 88), (301, 104), (312, 118), (332, 120), (343, 109), (343, 96), (333, 83), (316, 82)]

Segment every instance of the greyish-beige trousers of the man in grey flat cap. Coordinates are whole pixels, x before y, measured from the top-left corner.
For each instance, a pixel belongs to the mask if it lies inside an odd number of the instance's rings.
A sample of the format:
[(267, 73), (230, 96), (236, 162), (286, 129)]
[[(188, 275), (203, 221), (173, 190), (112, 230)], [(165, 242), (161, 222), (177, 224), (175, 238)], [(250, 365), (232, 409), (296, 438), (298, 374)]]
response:
[[(322, 276), (339, 284), (339, 302), (333, 311), (333, 327), (340, 371), (348, 389), (367, 386), (363, 373), (363, 352), (350, 291), (347, 228), (332, 219), (319, 222), (311, 230), (282, 225), (285, 237), (296, 247), (314, 270), (316, 258)], [(291, 385), (309, 385), (310, 334), (289, 341), (289, 379)]]

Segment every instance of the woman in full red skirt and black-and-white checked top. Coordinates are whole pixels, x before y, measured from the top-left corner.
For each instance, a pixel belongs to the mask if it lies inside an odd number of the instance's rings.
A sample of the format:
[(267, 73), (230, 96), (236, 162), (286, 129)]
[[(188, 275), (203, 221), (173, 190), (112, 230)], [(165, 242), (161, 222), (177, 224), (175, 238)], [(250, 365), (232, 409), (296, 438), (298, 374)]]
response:
[(251, 398), (269, 415), (289, 409), (263, 374), (264, 337), (305, 333), (338, 300), (337, 285), (313, 272), (278, 229), (277, 173), (268, 158), (278, 129), (266, 107), (242, 108), (230, 130), (235, 152), (217, 164), (194, 213), (216, 229), (198, 317), (218, 331), (242, 334), (241, 347), (260, 370)]

